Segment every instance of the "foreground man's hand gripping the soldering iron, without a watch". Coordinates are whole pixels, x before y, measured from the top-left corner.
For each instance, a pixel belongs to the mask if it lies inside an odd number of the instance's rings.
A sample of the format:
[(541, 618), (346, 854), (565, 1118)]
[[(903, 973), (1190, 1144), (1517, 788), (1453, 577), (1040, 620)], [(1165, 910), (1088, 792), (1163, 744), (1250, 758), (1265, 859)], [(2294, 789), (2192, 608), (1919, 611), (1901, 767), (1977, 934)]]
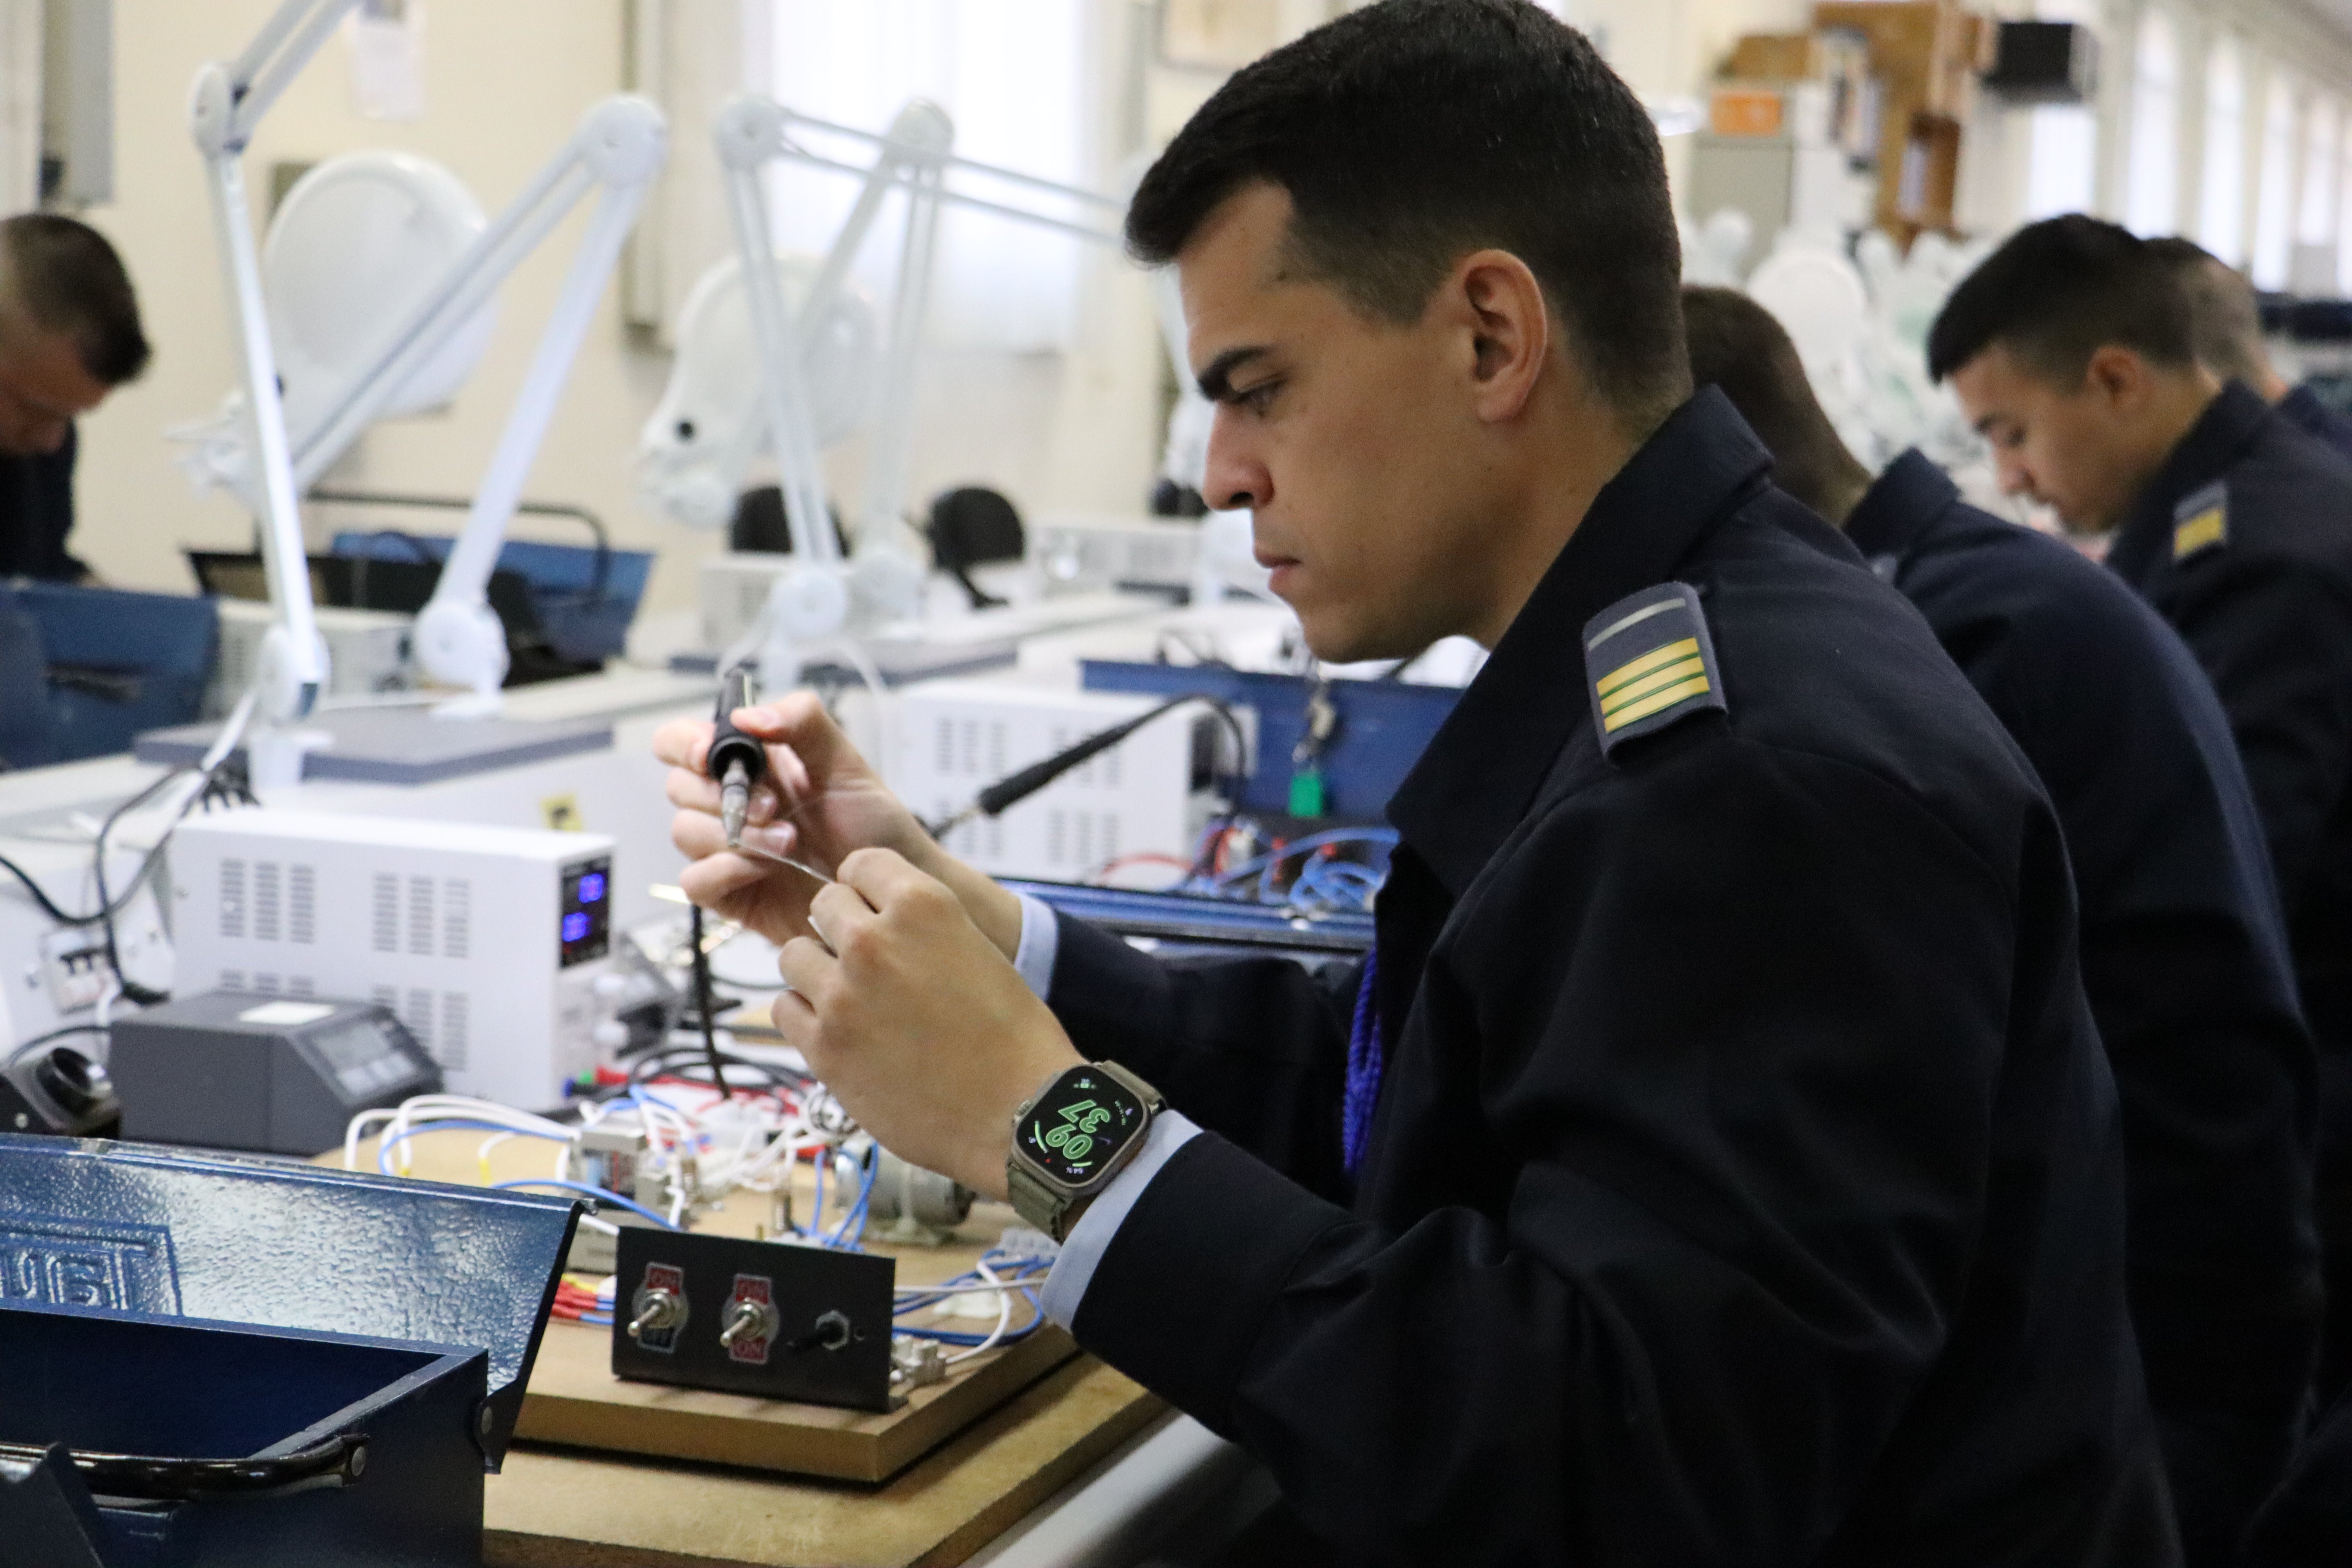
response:
[(654, 755), (670, 764), (668, 795), (677, 806), (670, 842), (694, 860), (677, 879), (687, 898), (781, 947), (807, 931), (818, 882), (769, 856), (837, 875), (858, 849), (889, 849), (948, 884), (988, 940), (1011, 957), (1021, 945), (1018, 900), (922, 830), (816, 696), (795, 691), (739, 708), (734, 724), (767, 745), (769, 773), (753, 792), (743, 851), (727, 849), (720, 827), (720, 788), (706, 771), (710, 724), (680, 719), (654, 736)]

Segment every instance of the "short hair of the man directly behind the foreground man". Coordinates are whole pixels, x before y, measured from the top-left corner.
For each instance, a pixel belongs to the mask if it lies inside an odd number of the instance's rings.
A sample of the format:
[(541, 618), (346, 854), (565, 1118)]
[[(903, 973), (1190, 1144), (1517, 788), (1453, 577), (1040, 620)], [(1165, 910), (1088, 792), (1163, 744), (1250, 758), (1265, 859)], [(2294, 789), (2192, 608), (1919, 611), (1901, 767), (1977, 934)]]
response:
[(1820, 411), (1804, 360), (1771, 310), (1733, 289), (1686, 287), (1682, 322), (1691, 341), (1691, 381), (1722, 388), (1771, 451), (1780, 489), (1830, 517), (1842, 480), (1867, 482), (1870, 473)]

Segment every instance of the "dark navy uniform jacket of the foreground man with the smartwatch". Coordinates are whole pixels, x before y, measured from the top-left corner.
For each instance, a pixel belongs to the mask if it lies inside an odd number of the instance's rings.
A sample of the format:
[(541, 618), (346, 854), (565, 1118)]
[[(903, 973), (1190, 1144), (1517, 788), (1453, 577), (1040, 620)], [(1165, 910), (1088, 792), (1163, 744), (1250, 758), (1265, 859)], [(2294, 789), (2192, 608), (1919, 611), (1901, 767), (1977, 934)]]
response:
[[(1684, 404), (1390, 804), (1352, 1201), (1343, 992), (1061, 926), (1070, 1037), (1209, 1128), (1075, 1333), (1348, 1559), (2176, 1561), (2058, 820), (1766, 470)], [(1623, 708), (1583, 644), (1668, 583), (1705, 672)]]

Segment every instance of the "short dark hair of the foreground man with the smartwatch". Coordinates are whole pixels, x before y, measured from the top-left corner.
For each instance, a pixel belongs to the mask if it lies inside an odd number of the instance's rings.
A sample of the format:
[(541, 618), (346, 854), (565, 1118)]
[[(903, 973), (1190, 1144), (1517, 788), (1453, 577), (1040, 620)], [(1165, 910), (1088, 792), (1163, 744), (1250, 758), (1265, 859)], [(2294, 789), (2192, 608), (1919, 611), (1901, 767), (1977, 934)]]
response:
[(1642, 101), (1526, 0), (1381, 0), (1235, 73), (1127, 209), (1164, 266), (1225, 197), (1291, 197), (1298, 270), (1362, 315), (1414, 322), (1465, 252), (1543, 284), (1595, 390), (1630, 425), (1689, 395), (1682, 242)]

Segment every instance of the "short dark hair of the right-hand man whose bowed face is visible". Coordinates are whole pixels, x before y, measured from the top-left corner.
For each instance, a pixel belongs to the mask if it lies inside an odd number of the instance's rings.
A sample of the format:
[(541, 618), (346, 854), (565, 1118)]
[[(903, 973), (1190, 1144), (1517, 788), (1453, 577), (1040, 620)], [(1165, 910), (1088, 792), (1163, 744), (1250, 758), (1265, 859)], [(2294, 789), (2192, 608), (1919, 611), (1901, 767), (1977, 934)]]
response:
[(2063, 386), (2107, 346), (2169, 367), (2197, 357), (2173, 268), (2129, 228), (2079, 212), (2027, 223), (1959, 280), (1926, 334), (1926, 374), (1943, 381), (1994, 343)]

